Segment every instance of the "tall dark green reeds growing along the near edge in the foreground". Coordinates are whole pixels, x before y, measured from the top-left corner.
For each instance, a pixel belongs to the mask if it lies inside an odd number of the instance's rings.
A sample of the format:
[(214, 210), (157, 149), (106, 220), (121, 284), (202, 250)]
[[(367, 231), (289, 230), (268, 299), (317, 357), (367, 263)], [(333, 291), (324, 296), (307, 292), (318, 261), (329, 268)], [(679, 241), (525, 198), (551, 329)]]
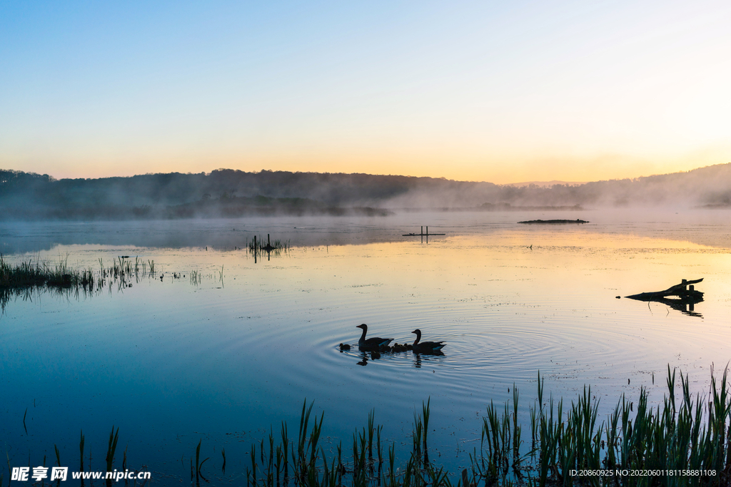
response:
[[(680, 390), (676, 391), (678, 378)], [(717, 383), (711, 368), (708, 394), (695, 397), (690, 393), (689, 376), (676, 374), (670, 366), (666, 383), (662, 403), (651, 405), (642, 388), (637, 402), (623, 394), (607, 420), (599, 421), (599, 401), (593, 398), (591, 387), (585, 386), (568, 404), (563, 398), (545, 396), (539, 372), (529, 424), (518, 421), (519, 393), (514, 387), (512, 401), (502, 407), (488, 405), (480, 447), (469, 453), (469, 465), (461, 472), (448, 472), (429, 459), (429, 400), (423, 402), (421, 411), (414, 410), (411, 451), (397, 465), (396, 444), (384, 440), (374, 410), (367, 426), (355, 430), (352, 443), (339, 442), (328, 456), (320, 442), (325, 413), (319, 418), (315, 414), (311, 421), (313, 403), (308, 405), (305, 399), (297, 436), (289, 437), (283, 421), (279, 434), (271, 430), (268, 438), (251, 444), (248, 458), (240, 460), (245, 472), (235, 476), (246, 475), (246, 485), (252, 487), (728, 486), (731, 391), (727, 370)], [(113, 471), (117, 437), (118, 430), (112, 429), (107, 472)], [(82, 471), (83, 442), (82, 434)], [(195, 460), (192, 454), (189, 459), (191, 484), (200, 486), (201, 479), (213, 485), (230, 483), (224, 447), (219, 448), (219, 475), (216, 460), (206, 457), (200, 461), (208, 454), (208, 448), (201, 452), (201, 445), (202, 440), (195, 448)], [(58, 447), (54, 448), (58, 457)], [(211, 463), (204, 468), (208, 460)], [(183, 472), (186, 469), (183, 463)]]

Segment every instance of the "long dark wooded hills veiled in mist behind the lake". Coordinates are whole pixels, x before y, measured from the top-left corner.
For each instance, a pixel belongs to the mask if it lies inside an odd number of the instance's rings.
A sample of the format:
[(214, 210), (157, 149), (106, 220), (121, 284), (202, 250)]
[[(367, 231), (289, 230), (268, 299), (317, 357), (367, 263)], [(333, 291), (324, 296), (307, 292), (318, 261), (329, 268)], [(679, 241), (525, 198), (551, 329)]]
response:
[(594, 183), (496, 185), (434, 177), (216, 169), (56, 180), (0, 170), (0, 218), (385, 215), (402, 208), (731, 207), (731, 164)]

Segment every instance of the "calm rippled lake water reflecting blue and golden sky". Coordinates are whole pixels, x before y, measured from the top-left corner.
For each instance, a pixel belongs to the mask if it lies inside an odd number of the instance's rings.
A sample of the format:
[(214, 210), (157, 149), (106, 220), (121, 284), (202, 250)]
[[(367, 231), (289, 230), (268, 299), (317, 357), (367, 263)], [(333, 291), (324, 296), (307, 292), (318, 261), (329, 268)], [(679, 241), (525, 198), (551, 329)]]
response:
[[(583, 218), (583, 226), (522, 226)], [(80, 429), (102, 469), (119, 426), (128, 463), (179, 483), (200, 439), (213, 483), (240, 483), (252, 442), (305, 399), (325, 411), (327, 448), (352, 442), (375, 409), (384, 438), (409, 450), (414, 407), (431, 398), (433, 459), (450, 469), (478, 445), (485, 406), (520, 391), (602, 411), (621, 394), (664, 394), (667, 365), (707, 392), (731, 359), (731, 218), (724, 212), (407, 213), (374, 219), (2, 224), (7, 261), (99, 268), (152, 260), (156, 277), (94, 296), (50, 292), (7, 303), (0, 318), (0, 435), (12, 466), (78, 464)], [(444, 237), (401, 237), (429, 224)], [(271, 234), (281, 256), (240, 248)], [(532, 246), (532, 248), (531, 248)], [(223, 276), (221, 279), (221, 268)], [(202, 276), (192, 283), (191, 272)], [(186, 277), (176, 279), (173, 273)], [(160, 278), (162, 276), (162, 279)], [(704, 281), (694, 315), (616, 299)], [(444, 356), (347, 352), (369, 333), (444, 340)], [(653, 383), (654, 376), (654, 383)], [(28, 433), (23, 429), (26, 416)], [(295, 432), (296, 433), (296, 432)], [(226, 448), (227, 475), (220, 472)], [(181, 463), (181, 457), (183, 461)], [(7, 467), (4, 467), (7, 476)]]

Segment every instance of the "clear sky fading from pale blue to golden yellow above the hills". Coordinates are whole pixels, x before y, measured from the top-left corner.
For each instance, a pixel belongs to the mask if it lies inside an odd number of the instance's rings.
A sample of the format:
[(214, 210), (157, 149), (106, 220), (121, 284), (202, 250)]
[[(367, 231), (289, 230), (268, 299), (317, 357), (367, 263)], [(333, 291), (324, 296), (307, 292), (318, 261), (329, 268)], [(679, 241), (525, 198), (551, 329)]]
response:
[(731, 162), (728, 1), (0, 0), (0, 169), (518, 183)]

